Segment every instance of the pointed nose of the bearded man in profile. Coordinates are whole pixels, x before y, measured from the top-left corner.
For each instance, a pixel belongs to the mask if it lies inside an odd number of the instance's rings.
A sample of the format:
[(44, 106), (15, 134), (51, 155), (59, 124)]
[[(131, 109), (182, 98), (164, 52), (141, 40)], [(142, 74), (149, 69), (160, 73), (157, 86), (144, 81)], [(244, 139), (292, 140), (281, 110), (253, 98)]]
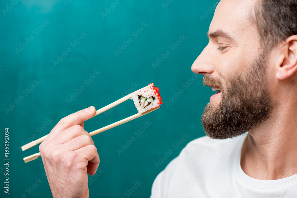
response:
[(192, 72), (201, 75), (213, 73), (213, 61), (214, 57), (211, 56), (211, 52), (209, 51), (209, 45), (207, 45), (192, 64)]

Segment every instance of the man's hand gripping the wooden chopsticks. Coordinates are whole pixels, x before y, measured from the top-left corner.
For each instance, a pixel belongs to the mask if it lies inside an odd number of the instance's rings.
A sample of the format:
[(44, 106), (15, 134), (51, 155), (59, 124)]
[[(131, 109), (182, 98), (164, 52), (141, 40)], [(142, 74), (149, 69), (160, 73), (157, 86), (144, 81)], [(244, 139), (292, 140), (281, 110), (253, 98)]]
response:
[(39, 146), (54, 198), (89, 197), (88, 173), (96, 173), (99, 155), (83, 122), (94, 114), (89, 107), (62, 118)]

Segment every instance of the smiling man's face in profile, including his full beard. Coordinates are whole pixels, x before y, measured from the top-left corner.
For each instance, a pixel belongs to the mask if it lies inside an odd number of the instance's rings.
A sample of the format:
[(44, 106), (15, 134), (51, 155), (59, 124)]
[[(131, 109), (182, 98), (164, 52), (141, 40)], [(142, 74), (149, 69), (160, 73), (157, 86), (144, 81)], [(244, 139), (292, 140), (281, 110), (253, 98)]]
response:
[(201, 121), (214, 139), (240, 135), (258, 126), (271, 112), (267, 54), (263, 53), (249, 11), (255, 1), (221, 1), (210, 24), (209, 43), (192, 71), (204, 75), (203, 84), (218, 87)]

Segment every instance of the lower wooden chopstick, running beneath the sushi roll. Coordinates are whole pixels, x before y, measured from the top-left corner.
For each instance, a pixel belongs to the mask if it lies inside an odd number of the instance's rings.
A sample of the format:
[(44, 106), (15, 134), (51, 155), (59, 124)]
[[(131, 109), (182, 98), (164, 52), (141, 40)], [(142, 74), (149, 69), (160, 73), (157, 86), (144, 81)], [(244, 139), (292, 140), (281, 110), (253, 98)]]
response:
[[(97, 130), (95, 130), (95, 131), (89, 132), (89, 134), (90, 134), (91, 136), (96, 135), (96, 134), (98, 134), (98, 133), (101, 133), (101, 132), (106, 131), (106, 130), (108, 130), (108, 129), (111, 129), (111, 128), (113, 128), (113, 127), (119, 126), (119, 125), (121, 125), (121, 124), (123, 124), (123, 123), (129, 122), (129, 121), (131, 121), (131, 120), (133, 120), (133, 119), (135, 119), (135, 118), (139, 118), (140, 116), (143, 116), (143, 115), (146, 115), (146, 114), (148, 114), (148, 113), (151, 113), (152, 111), (154, 111), (154, 110), (156, 110), (156, 109), (159, 109), (159, 108), (160, 108), (160, 107), (158, 106), (158, 107), (155, 107), (155, 108), (153, 108), (153, 109), (150, 109), (150, 110), (148, 110), (148, 111), (146, 111), (146, 112), (144, 112), (144, 113), (137, 113), (137, 114), (132, 115), (132, 116), (130, 116), (130, 117), (128, 117), (128, 118), (125, 118), (125, 119), (123, 119), (123, 120), (117, 121), (117, 122), (115, 122), (115, 123), (113, 123), (113, 124), (110, 124), (110, 125), (108, 125), (108, 126), (102, 127), (101, 129), (97, 129)], [(28, 156), (28, 157), (25, 157), (25, 158), (24, 158), (24, 161), (25, 161), (25, 163), (27, 163), (27, 162), (29, 162), (29, 161), (32, 161), (32, 160), (34, 160), (34, 159), (37, 159), (38, 157), (40, 157), (40, 155), (41, 155), (40, 153), (35, 153), (35, 154), (33, 154), (33, 155), (30, 155), (30, 156)]]

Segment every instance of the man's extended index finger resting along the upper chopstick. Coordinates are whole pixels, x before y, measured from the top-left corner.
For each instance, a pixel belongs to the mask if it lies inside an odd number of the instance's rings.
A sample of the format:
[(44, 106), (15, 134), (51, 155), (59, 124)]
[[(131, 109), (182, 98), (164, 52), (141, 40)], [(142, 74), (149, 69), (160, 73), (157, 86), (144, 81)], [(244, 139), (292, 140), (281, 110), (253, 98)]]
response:
[(45, 143), (52, 140), (58, 133), (69, 128), (70, 126), (73, 126), (76, 124), (80, 125), (84, 121), (89, 120), (94, 116), (95, 110), (96, 110), (95, 107), (91, 106), (89, 108), (72, 113), (66, 116), (65, 118), (62, 118), (58, 122), (58, 124), (51, 130), (49, 136), (44, 140)]

